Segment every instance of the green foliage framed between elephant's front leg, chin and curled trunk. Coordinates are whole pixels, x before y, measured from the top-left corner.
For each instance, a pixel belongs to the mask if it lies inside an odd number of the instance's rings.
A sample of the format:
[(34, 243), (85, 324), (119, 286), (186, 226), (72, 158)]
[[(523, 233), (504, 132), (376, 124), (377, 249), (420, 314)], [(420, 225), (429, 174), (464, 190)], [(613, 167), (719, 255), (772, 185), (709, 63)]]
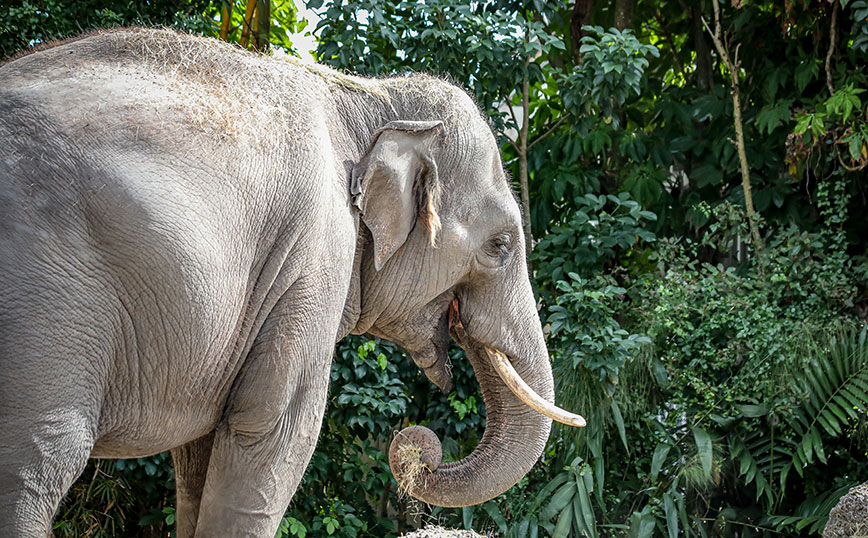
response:
[(391, 343), (348, 337), (338, 344), (323, 431), (284, 518), (284, 536), (393, 535), (404, 524), (390, 518), (408, 509), (389, 471), (392, 435), (425, 424), (438, 432), (450, 461), (469, 453), (484, 428), (472, 369), (460, 351), (451, 356), (455, 390), (445, 395), (432, 392), (412, 360)]

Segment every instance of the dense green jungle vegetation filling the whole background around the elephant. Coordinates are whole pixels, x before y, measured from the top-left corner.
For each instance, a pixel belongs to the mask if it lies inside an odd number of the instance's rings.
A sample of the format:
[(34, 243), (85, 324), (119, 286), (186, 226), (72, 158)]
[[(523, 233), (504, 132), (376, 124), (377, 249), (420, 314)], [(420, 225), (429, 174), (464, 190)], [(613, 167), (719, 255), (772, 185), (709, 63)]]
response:
[[(588, 418), (497, 499), (421, 506), (385, 452), (407, 424), (472, 450), (472, 370), (456, 350), (444, 395), (347, 338), (278, 536), (812, 536), (868, 480), (868, 1), (12, 0), (0, 55), (129, 24), (276, 55), (313, 32), (321, 63), (466, 88), (522, 202), (557, 403)], [(173, 528), (162, 454), (92, 461), (55, 535)]]

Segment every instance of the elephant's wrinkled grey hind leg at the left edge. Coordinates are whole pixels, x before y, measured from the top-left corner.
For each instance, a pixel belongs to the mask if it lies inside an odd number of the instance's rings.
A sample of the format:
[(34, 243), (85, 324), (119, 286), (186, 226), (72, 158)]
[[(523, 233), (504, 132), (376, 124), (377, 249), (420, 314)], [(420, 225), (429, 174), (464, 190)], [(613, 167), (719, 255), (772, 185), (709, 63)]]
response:
[[(74, 286), (70, 294), (78, 296)], [(41, 306), (38, 293), (28, 299)], [(93, 450), (105, 355), (54, 304), (43, 325), (0, 307), (0, 536), (50, 535), (63, 495)], [(17, 314), (17, 315), (15, 315)], [(75, 320), (73, 322), (72, 320)]]

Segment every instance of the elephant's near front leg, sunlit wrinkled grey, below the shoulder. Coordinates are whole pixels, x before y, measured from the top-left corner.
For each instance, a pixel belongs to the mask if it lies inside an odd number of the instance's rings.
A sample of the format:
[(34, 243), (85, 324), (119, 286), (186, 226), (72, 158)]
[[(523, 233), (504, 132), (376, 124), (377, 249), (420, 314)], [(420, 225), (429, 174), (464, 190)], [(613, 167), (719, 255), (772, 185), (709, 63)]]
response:
[(196, 536), (273, 536), (313, 455), (340, 309), (313, 319), (314, 297), (322, 304), (326, 295), (292, 291), (272, 310), (233, 384), (214, 434)]

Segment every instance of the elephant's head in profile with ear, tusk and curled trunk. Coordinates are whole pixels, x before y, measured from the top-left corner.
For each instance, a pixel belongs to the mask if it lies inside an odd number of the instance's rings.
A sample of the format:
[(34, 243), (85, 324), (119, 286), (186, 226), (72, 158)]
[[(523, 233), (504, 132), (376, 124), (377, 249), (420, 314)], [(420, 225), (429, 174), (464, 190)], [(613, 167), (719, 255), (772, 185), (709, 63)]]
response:
[[(541, 413), (584, 420), (553, 405), (521, 214), (494, 135), (469, 97), (452, 96), (442, 117), (432, 107), (424, 119), (375, 130), (353, 169), (354, 204), (368, 233), (360, 235), (352, 332), (402, 346), (444, 391), (450, 338), (465, 350), (487, 411), (477, 448), (440, 464), (440, 442), (422, 427), (402, 431), (390, 448), (404, 489), (457, 507), (491, 499), (527, 473), (551, 428)], [(413, 450), (424, 465), (419, 473), (402, 460)]]

